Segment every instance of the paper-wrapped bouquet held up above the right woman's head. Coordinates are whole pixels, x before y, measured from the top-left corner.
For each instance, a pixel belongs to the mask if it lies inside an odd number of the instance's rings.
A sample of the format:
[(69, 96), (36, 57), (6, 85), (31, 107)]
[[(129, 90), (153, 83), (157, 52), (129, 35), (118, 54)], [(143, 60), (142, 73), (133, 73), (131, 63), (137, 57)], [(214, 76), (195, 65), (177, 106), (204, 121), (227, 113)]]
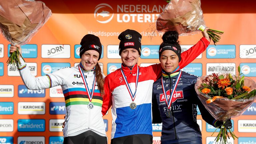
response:
[[(180, 35), (192, 35), (204, 31), (205, 22), (200, 0), (170, 0), (165, 10), (156, 20), (159, 32), (178, 31)], [(207, 31), (214, 44), (219, 41), (223, 31), (209, 29)]]

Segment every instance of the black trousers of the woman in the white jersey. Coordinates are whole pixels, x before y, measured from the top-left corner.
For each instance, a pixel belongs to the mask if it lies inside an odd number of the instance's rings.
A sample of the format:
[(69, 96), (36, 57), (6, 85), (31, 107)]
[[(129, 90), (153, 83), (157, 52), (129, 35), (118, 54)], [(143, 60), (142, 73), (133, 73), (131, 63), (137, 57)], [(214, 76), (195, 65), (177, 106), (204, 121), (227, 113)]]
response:
[(107, 137), (89, 130), (76, 136), (65, 137), (63, 144), (107, 144)]

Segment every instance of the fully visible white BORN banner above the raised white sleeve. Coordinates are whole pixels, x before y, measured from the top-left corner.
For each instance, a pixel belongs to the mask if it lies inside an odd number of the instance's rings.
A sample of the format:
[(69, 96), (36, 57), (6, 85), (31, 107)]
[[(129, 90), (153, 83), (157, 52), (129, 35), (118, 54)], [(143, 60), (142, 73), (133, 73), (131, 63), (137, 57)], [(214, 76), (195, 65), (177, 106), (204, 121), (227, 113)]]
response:
[(43, 44), (42, 58), (70, 58), (70, 45)]

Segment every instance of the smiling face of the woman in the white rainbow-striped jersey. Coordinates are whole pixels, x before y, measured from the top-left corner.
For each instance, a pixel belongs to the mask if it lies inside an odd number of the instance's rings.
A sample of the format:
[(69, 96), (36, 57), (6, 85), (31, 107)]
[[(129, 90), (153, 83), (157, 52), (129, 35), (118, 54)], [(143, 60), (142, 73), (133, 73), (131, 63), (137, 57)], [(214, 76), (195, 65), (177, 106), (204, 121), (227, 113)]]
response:
[(81, 63), (85, 70), (89, 71), (96, 66), (100, 54), (95, 50), (85, 51), (81, 57)]

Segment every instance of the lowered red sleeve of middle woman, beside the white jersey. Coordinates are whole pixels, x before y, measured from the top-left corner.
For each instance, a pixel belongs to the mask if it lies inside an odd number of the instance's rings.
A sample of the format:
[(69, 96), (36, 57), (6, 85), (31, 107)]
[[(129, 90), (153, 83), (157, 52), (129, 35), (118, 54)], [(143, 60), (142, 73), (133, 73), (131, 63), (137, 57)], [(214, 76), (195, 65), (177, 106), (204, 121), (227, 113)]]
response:
[(102, 103), (102, 110), (101, 113), (104, 116), (108, 109), (111, 107), (112, 105), (112, 93), (110, 90), (110, 86), (111, 86), (111, 82), (109, 80), (109, 76), (105, 77), (104, 80), (104, 96), (103, 96), (103, 103)]

